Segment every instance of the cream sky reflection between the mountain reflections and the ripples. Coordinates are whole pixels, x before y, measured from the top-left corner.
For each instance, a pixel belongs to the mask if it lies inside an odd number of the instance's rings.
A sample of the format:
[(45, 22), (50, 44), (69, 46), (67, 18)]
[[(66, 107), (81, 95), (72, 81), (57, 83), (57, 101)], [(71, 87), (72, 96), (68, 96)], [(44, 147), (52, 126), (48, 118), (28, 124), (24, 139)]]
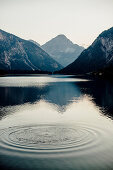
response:
[[(12, 108), (13, 107), (13, 108)], [(76, 123), (92, 122), (104, 120), (100, 117), (101, 111), (88, 96), (80, 98), (78, 102), (70, 103), (65, 112), (59, 110), (58, 105), (53, 105), (41, 100), (34, 104), (25, 104), (7, 107), (5, 116), (0, 126), (10, 126), (18, 124), (37, 124), (37, 123)], [(3, 109), (5, 112), (5, 109)], [(63, 114), (61, 114), (63, 113)]]

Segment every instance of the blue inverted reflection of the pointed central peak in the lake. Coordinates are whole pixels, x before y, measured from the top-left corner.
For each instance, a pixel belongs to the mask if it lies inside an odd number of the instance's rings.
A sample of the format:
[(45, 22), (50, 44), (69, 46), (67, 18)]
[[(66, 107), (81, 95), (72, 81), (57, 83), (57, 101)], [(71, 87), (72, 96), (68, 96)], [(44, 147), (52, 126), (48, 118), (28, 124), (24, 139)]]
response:
[(45, 100), (57, 105), (59, 111), (63, 112), (73, 99), (77, 100), (80, 96), (80, 89), (73, 82), (56, 82), (50, 86)]

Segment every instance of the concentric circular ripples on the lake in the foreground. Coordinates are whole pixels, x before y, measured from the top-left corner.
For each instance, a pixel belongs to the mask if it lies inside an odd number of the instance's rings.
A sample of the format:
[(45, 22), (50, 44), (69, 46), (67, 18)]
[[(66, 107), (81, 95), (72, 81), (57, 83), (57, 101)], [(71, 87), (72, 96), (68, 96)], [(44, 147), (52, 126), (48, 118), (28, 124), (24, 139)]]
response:
[[(105, 131), (84, 124), (74, 126), (18, 126), (0, 132), (0, 147), (21, 153), (86, 153), (101, 144)], [(85, 150), (85, 152), (84, 152)]]

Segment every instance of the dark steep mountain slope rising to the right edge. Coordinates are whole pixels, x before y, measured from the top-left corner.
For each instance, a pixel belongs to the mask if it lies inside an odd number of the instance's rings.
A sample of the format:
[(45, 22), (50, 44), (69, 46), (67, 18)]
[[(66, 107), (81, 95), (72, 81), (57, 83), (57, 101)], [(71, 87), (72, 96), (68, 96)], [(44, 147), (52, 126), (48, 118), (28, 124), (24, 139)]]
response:
[(83, 74), (111, 66), (113, 66), (113, 27), (102, 32), (89, 48), (59, 73)]

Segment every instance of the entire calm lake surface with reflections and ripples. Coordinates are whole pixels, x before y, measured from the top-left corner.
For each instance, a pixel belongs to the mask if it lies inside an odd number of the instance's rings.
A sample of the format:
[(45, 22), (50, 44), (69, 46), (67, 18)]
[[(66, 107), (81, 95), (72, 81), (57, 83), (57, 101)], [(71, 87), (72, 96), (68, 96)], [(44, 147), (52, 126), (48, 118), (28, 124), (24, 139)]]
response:
[(0, 169), (113, 169), (113, 83), (0, 77)]

